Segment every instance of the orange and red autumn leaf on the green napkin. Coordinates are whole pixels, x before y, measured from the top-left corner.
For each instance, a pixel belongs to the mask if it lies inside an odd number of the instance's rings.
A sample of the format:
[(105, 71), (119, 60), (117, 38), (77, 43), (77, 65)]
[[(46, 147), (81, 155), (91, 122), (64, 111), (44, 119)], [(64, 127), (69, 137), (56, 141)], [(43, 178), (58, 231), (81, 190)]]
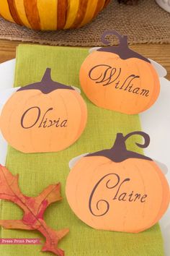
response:
[(14, 202), (24, 211), (22, 220), (0, 220), (0, 226), (3, 226), (4, 229), (38, 230), (46, 239), (42, 252), (48, 251), (58, 256), (64, 256), (63, 250), (58, 248), (58, 242), (63, 236), (66, 236), (68, 229), (55, 231), (50, 229), (43, 220), (43, 214), (48, 205), (62, 199), (61, 184), (48, 186), (37, 197), (27, 197), (19, 189), (18, 178), (18, 175), (13, 176), (6, 167), (0, 165), (0, 199)]

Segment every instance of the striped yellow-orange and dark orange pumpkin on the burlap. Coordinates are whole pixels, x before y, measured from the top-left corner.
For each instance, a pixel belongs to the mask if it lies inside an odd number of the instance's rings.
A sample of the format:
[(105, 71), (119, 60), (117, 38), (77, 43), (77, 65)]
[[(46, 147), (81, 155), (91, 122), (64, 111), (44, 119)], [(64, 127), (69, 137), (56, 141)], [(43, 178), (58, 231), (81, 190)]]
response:
[(0, 16), (34, 30), (82, 27), (110, 0), (0, 0)]

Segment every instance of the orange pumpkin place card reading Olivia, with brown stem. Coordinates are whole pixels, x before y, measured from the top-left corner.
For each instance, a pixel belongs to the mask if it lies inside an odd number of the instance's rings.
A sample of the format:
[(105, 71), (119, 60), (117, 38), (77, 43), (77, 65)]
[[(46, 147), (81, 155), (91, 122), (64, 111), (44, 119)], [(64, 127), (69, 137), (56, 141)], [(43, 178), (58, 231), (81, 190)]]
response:
[(19, 88), (1, 111), (2, 135), (23, 153), (57, 152), (79, 139), (86, 103), (70, 86), (54, 82), (47, 69), (41, 82)]

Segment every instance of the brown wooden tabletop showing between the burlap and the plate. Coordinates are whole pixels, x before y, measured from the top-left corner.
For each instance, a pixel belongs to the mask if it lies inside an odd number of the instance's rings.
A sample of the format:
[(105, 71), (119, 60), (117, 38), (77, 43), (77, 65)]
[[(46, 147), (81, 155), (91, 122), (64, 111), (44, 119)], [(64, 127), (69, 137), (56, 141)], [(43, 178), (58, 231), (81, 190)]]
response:
[[(19, 43), (22, 42), (0, 40), (0, 63), (15, 58)], [(170, 80), (170, 44), (135, 44), (130, 48), (163, 65), (168, 72), (166, 78)]]

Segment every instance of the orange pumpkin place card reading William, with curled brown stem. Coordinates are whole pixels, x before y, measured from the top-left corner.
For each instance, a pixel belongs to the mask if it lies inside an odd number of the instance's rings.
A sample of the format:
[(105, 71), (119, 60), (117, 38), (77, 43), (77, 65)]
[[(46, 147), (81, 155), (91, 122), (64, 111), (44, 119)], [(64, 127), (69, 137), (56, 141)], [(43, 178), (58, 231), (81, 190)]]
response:
[(92, 103), (125, 114), (138, 114), (158, 98), (160, 82), (148, 59), (128, 48), (128, 37), (117, 35), (119, 46), (99, 48), (87, 56), (80, 69), (81, 88)]

